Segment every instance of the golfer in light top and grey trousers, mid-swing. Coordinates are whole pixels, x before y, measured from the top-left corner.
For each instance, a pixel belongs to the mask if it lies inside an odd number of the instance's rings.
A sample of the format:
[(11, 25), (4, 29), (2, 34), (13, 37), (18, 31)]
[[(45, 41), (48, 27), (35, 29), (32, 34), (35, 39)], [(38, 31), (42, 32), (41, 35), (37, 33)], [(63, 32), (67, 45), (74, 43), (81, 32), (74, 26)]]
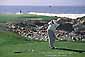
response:
[(59, 21), (60, 21), (60, 18), (57, 19), (57, 20), (51, 20), (49, 23), (48, 23), (48, 28), (47, 28), (47, 33), (48, 33), (48, 37), (49, 37), (49, 47), (51, 49), (55, 49), (55, 39), (56, 39), (56, 35), (55, 35), (55, 32), (56, 32), (56, 28), (59, 26)]

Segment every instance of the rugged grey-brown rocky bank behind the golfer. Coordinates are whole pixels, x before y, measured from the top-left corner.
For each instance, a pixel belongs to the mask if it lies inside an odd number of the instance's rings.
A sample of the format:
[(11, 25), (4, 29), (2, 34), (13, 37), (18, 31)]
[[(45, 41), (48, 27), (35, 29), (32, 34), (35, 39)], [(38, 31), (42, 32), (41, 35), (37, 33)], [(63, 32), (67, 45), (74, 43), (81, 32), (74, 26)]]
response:
[[(76, 19), (57, 17), (61, 26), (56, 30), (56, 39), (65, 41), (85, 41), (85, 16)], [(47, 27), (50, 20), (22, 20), (7, 23), (8, 30), (17, 33), (26, 40), (48, 41)]]

